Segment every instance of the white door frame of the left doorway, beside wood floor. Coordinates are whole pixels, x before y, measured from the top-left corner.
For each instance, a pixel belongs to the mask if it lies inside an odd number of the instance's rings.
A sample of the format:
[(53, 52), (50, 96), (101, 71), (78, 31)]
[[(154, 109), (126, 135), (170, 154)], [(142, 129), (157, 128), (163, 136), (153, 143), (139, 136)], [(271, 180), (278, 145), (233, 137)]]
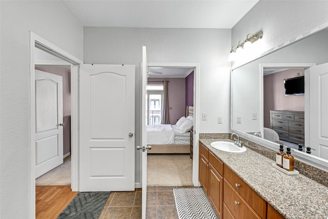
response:
[[(71, 66), (71, 188), (72, 191), (79, 190), (78, 182), (78, 69), (83, 64), (79, 58), (71, 55), (63, 49), (55, 46), (46, 39), (30, 31), (30, 54), (29, 54), (29, 148), (30, 148), (30, 166), (29, 166), (29, 200), (30, 200), (30, 218), (35, 218), (35, 48), (41, 49), (52, 54)], [(61, 62), (60, 62), (61, 63)], [(49, 64), (49, 62), (48, 62)], [(54, 65), (54, 63), (52, 63)], [(58, 63), (57, 63), (58, 64)]]

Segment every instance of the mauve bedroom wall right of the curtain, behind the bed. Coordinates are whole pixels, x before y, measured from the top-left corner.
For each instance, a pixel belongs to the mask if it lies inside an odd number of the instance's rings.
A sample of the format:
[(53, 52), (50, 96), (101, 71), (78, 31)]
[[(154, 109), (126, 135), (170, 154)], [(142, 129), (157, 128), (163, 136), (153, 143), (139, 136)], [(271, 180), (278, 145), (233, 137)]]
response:
[(148, 82), (164, 80), (169, 81), (169, 107), (172, 107), (169, 110), (169, 122), (174, 125), (179, 118), (186, 116), (186, 78), (148, 78)]

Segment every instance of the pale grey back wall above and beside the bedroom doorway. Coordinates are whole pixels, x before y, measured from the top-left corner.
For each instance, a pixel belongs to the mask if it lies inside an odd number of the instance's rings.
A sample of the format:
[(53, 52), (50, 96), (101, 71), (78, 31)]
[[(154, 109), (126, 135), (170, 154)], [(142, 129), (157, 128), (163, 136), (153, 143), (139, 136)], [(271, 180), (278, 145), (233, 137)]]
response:
[[(200, 63), (200, 133), (229, 131), (230, 29), (84, 28), (84, 62), (136, 65), (136, 145), (140, 129), (140, 62), (147, 46), (148, 62)], [(222, 116), (223, 123), (217, 123)], [(136, 182), (139, 182), (136, 151)]]

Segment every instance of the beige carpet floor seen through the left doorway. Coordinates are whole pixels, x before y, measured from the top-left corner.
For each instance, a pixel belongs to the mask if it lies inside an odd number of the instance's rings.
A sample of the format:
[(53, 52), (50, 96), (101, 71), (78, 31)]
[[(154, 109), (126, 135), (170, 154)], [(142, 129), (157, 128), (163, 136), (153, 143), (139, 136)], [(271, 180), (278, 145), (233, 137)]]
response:
[(35, 179), (36, 186), (71, 185), (71, 156), (64, 163)]

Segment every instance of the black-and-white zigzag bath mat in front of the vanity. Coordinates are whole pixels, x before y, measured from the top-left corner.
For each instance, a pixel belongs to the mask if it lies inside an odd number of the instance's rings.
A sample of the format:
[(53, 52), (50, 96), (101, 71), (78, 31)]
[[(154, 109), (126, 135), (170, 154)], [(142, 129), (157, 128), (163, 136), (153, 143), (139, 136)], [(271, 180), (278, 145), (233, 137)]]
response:
[(180, 219), (219, 219), (203, 188), (179, 188), (173, 193)]

